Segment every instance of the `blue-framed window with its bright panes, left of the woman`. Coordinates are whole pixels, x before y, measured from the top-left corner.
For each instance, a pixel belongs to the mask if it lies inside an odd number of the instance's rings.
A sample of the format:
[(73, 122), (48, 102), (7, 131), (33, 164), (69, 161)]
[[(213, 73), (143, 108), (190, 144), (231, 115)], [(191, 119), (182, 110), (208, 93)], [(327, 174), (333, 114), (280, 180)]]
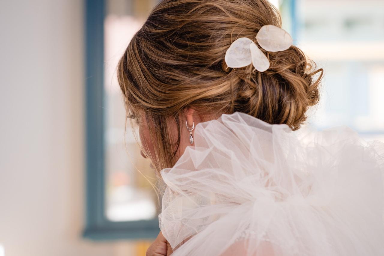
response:
[(140, 155), (133, 128), (128, 124), (124, 132), (126, 113), (115, 70), (154, 4), (86, 1), (87, 238), (156, 238), (160, 231), (151, 187), (156, 179)]

